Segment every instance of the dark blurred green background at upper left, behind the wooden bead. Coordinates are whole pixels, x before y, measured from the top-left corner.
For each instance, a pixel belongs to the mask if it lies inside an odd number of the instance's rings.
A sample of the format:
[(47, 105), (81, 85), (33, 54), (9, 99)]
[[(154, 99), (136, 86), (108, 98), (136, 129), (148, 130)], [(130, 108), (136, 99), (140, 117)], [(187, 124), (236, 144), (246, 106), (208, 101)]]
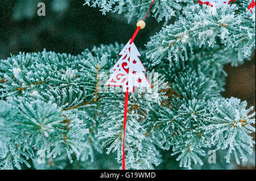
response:
[[(46, 5), (46, 16), (38, 16), (39, 2)], [(135, 31), (137, 20), (130, 24), (123, 15), (83, 6), (84, 0), (10, 0), (0, 2), (0, 58), (10, 53), (38, 52), (43, 48), (60, 53), (81, 53), (100, 44), (126, 43)], [(143, 47), (163, 23), (148, 18), (147, 31), (137, 37)]]

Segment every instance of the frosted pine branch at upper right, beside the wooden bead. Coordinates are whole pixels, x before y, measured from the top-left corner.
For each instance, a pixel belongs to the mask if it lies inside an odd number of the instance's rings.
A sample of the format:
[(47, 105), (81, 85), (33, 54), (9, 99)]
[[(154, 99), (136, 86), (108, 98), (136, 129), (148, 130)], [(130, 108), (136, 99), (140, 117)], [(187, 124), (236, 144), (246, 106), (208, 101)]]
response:
[[(249, 1), (248, 1), (249, 3)], [(242, 11), (242, 9), (244, 9)], [(240, 10), (240, 13), (237, 13)], [(174, 24), (170, 24), (151, 37), (147, 47), (152, 65), (163, 57), (171, 62), (188, 60), (188, 52), (203, 46), (225, 45), (234, 49), (238, 60), (249, 57), (255, 48), (255, 9), (253, 12), (237, 5), (223, 4), (219, 7), (189, 5)]]

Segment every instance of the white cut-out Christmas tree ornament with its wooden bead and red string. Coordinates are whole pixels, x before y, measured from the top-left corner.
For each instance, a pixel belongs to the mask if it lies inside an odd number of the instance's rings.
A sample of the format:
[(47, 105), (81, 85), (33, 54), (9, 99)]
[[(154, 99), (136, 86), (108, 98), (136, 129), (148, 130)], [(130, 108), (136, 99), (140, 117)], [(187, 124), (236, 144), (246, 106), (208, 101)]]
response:
[[(154, 0), (155, 1), (155, 0)], [(154, 1), (152, 1), (150, 8), (152, 7)], [(150, 10), (148, 9), (148, 11)], [(148, 13), (147, 11), (147, 13)], [(144, 19), (147, 16), (144, 16)], [(127, 107), (129, 93), (134, 92), (135, 87), (139, 88), (151, 88), (150, 82), (148, 82), (146, 75), (143, 73), (147, 71), (142, 65), (141, 60), (139, 60), (139, 53), (137, 47), (133, 43), (133, 40), (137, 36), (139, 30), (143, 29), (146, 26), (146, 23), (143, 20), (140, 20), (137, 23), (137, 29), (134, 32), (131, 39), (121, 50), (119, 55), (121, 56), (117, 63), (113, 66), (113, 74), (110, 75), (110, 78), (106, 82), (108, 86), (121, 86), (123, 87), (123, 92), (125, 92), (125, 113), (123, 119), (123, 156), (122, 156), (122, 169), (125, 170), (125, 126), (126, 126), (126, 117), (127, 117)]]

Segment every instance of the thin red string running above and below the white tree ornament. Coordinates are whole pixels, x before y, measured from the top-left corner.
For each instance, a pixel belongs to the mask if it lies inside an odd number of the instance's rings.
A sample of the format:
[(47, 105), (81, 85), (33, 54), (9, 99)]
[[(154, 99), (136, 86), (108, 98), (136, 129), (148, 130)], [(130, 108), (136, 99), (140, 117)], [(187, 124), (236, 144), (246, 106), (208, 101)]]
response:
[[(148, 9), (146, 15), (144, 16), (143, 21), (145, 20), (147, 14), (148, 14), (148, 12), (150, 11), (150, 9), (151, 9), (151, 7), (152, 7), (152, 5), (153, 5), (154, 2), (155, 2), (155, 0), (152, 1), (151, 6), (150, 6), (150, 8)], [(137, 34), (138, 34), (138, 32), (139, 32), (140, 29), (141, 29), (141, 27), (138, 27), (138, 28), (135, 30), (133, 36), (131, 37), (130, 44), (133, 43), (133, 41), (134, 41), (135, 37), (137, 36)], [(122, 164), (122, 169), (123, 169), (123, 170), (125, 170), (125, 126), (126, 126), (126, 118), (127, 118), (128, 99), (129, 99), (129, 92), (128, 92), (128, 89), (127, 89), (127, 91), (126, 91), (126, 93), (125, 93), (125, 115), (124, 115), (124, 119), (123, 119), (123, 159), (122, 159), (122, 163), (123, 163), (123, 164)]]

